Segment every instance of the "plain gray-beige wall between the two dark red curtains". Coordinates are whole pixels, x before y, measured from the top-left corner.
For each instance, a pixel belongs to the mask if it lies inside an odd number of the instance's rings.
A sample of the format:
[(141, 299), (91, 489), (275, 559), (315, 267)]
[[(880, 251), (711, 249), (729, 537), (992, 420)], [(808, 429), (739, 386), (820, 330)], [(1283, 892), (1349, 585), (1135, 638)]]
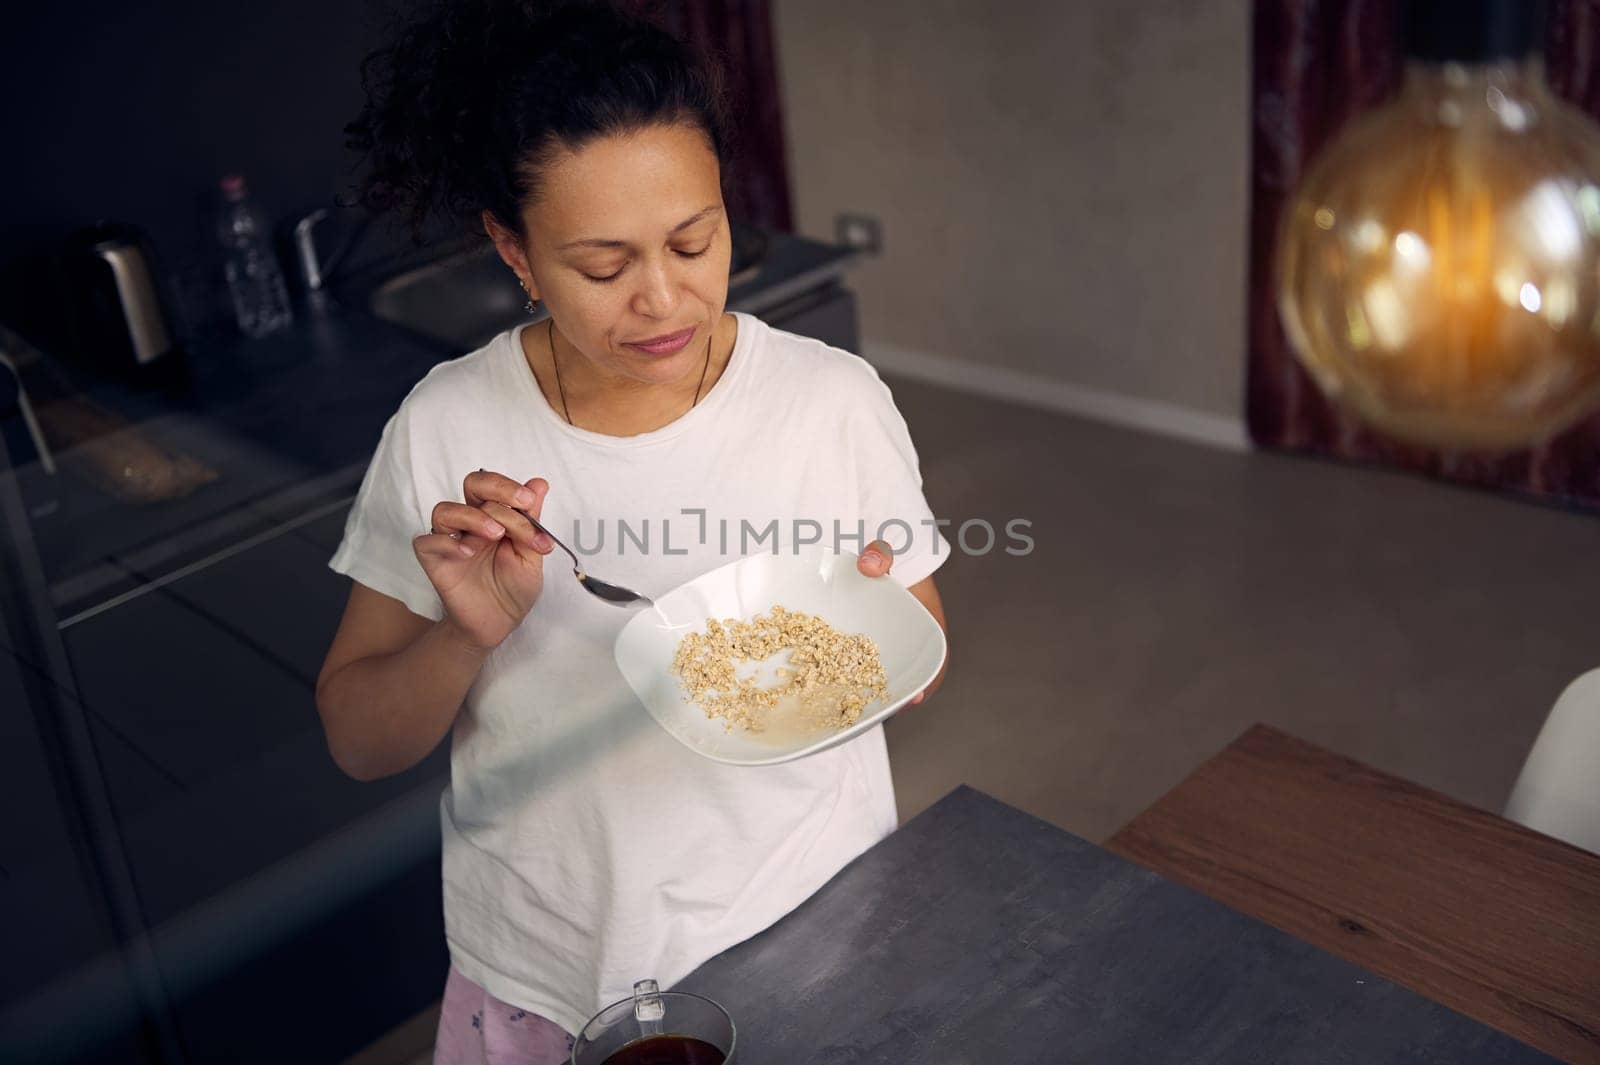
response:
[(862, 337), (1237, 417), (1245, 0), (776, 0), (797, 229)]

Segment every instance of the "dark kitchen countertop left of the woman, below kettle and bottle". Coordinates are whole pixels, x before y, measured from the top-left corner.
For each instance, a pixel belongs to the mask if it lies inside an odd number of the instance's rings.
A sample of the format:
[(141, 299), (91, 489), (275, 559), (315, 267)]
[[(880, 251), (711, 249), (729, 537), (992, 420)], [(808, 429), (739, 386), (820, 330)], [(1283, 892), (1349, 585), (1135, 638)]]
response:
[(70, 472), (51, 477), (37, 461), (18, 469), (62, 616), (349, 499), (384, 422), (448, 358), (360, 312), (296, 312), (291, 328), (259, 341), (195, 344), (184, 379), (165, 389), (102, 381), (90, 392), (146, 440), (205, 462), (216, 481), (133, 505)]

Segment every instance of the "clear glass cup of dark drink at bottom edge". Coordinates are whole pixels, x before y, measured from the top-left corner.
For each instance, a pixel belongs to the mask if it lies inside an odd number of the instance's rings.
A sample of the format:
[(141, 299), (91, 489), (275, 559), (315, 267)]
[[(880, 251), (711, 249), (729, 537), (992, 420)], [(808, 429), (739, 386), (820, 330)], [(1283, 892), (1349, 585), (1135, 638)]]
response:
[(734, 1065), (733, 1044), (726, 1009), (640, 980), (634, 998), (614, 1001), (589, 1019), (573, 1044), (571, 1065)]

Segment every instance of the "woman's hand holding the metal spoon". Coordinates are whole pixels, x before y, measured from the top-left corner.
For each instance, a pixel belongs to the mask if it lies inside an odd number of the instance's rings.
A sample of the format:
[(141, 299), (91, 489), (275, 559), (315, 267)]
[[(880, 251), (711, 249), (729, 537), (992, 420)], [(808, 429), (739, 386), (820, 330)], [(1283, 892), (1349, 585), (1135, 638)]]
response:
[(518, 510), (538, 518), (549, 491), (541, 477), (518, 485), (502, 473), (469, 473), (466, 502), (437, 504), (434, 531), (411, 542), (445, 619), (474, 646), (499, 646), (544, 588), (544, 556), (555, 544)]

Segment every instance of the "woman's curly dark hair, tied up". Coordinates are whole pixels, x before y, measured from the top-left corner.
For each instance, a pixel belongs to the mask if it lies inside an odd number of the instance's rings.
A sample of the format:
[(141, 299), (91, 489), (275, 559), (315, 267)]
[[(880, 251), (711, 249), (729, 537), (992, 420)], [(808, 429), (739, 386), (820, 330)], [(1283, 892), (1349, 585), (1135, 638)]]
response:
[(550, 157), (594, 138), (686, 123), (723, 173), (731, 155), (720, 70), (611, 0), (435, 0), (362, 61), (362, 85), (354, 200), (418, 243), (430, 216), (483, 209), (522, 235)]

